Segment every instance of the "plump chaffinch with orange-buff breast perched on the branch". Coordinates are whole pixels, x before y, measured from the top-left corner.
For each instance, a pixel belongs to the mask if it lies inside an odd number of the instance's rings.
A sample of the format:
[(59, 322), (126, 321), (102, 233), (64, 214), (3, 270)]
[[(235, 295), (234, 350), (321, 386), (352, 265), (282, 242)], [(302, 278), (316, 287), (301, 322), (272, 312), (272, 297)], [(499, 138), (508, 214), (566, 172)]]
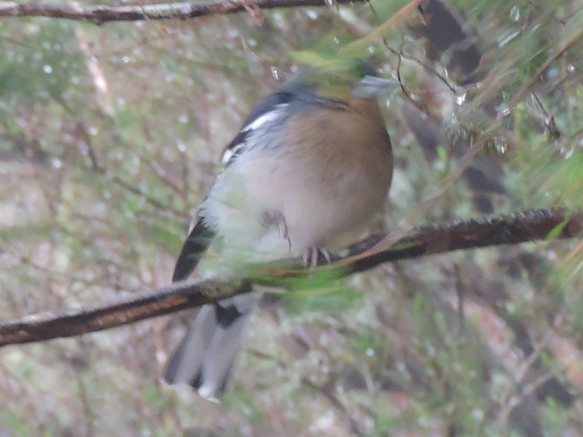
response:
[[(264, 98), (223, 151), (224, 170), (192, 222), (173, 281), (191, 276), (211, 241), (220, 241), (223, 270), (236, 274), (286, 256), (315, 266), (318, 252), (362, 232), (391, 184), (391, 142), (377, 104), (390, 83), (357, 62), (303, 73)], [(166, 382), (217, 400), (258, 299), (255, 292), (199, 309)]]

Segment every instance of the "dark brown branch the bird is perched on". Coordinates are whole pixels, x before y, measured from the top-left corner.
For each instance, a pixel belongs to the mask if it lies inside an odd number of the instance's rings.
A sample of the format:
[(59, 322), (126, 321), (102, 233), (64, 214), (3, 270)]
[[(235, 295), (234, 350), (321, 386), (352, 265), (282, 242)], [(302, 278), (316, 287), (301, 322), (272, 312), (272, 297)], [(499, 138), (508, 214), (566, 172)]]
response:
[[(384, 236), (371, 236), (351, 246), (347, 258), (336, 258), (330, 265), (306, 270), (301, 260), (283, 260), (258, 265), (238, 283), (207, 280), (185, 281), (160, 288), (147, 295), (64, 315), (50, 312), (27, 316), (0, 325), (0, 346), (78, 336), (110, 327), (127, 325), (146, 318), (181, 309), (196, 308), (235, 294), (250, 292), (252, 284), (291, 286), (294, 281), (315, 274), (330, 280), (370, 270), (385, 262), (419, 258), (458, 249), (518, 244), (552, 238), (580, 237), (583, 214), (566, 209), (526, 210), (508, 216), (490, 216), (480, 220), (457, 221), (415, 228), (391, 248), (375, 252), (374, 245)], [(282, 268), (282, 265), (290, 267)]]

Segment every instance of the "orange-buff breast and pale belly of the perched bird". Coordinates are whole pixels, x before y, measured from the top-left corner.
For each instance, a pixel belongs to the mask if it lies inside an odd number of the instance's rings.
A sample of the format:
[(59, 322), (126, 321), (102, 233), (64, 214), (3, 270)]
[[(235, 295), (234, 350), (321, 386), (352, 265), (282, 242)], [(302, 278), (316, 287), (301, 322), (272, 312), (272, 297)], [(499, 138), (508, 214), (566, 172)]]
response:
[[(219, 233), (241, 246), (273, 245), (282, 258), (362, 231), (387, 199), (391, 148), (366, 118), (354, 124), (354, 114), (340, 115), (318, 112), (308, 125), (291, 119), (277, 147), (238, 157), (205, 202)], [(291, 246), (266, 214), (283, 217)]]

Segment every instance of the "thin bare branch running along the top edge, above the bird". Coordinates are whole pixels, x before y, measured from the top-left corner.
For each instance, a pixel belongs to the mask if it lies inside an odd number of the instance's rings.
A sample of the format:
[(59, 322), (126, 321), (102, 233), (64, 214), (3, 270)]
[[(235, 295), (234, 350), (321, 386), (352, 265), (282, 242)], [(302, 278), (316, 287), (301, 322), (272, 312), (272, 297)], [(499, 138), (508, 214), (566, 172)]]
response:
[[(359, 3), (367, 0), (333, 0), (336, 4)], [(329, 6), (326, 0), (243, 0), (216, 1), (209, 3), (159, 3), (156, 5), (92, 6), (81, 8), (73, 5), (48, 3), (0, 2), (0, 17), (52, 17), (80, 20), (93, 24), (112, 21), (139, 20), (187, 20), (217, 14), (253, 11), (255, 9), (292, 8), (296, 6)]]

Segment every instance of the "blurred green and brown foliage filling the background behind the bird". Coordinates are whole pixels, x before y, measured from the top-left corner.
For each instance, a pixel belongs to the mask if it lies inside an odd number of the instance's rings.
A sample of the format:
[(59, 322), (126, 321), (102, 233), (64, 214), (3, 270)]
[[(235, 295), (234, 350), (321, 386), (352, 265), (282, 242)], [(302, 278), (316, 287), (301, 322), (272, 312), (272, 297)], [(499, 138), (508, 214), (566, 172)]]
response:
[[(583, 3), (452, 0), (442, 30), (426, 2), (363, 40), (405, 4), (0, 22), (0, 319), (166, 285), (252, 105), (356, 50), (402, 84), (389, 230), (580, 209)], [(582, 265), (546, 242), (268, 294), (221, 404), (159, 380), (190, 313), (6, 347), (0, 435), (582, 435)]]

